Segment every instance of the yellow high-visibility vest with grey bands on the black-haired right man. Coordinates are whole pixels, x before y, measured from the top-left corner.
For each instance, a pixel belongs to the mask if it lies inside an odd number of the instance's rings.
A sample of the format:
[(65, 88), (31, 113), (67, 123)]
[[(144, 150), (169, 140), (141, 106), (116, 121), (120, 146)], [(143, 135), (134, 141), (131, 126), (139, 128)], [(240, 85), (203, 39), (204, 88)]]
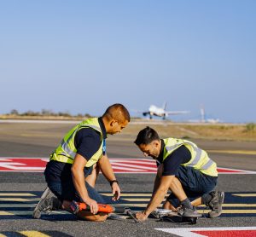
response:
[(199, 170), (208, 176), (218, 176), (216, 163), (208, 157), (206, 151), (197, 147), (195, 143), (176, 138), (166, 138), (164, 139), (164, 143), (165, 148), (163, 160), (165, 160), (178, 147), (184, 145), (189, 149), (189, 152), (191, 153), (191, 159), (188, 163), (182, 165), (193, 167), (195, 170)]

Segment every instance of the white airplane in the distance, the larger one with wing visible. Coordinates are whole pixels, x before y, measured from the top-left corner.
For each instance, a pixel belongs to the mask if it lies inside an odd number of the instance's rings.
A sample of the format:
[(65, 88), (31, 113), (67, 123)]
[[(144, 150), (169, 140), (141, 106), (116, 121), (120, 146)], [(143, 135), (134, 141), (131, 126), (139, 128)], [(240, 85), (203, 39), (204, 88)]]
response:
[(162, 117), (166, 119), (169, 115), (177, 115), (177, 114), (184, 114), (189, 113), (189, 111), (166, 111), (166, 102), (164, 103), (163, 107), (156, 107), (151, 105), (148, 107), (148, 111), (143, 112), (143, 116), (149, 115), (149, 119), (152, 119), (153, 116)]

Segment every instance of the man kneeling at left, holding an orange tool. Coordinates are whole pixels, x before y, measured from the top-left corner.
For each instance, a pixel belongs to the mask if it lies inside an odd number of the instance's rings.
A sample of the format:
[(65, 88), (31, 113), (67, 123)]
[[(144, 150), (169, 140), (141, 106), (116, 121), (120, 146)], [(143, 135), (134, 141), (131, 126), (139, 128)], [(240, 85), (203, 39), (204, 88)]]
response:
[(82, 214), (79, 211), (79, 217), (90, 221), (106, 220), (108, 214), (98, 212), (97, 203), (105, 204), (107, 200), (96, 192), (96, 178), (102, 171), (111, 185), (113, 200), (119, 199), (119, 183), (108, 160), (106, 138), (107, 134), (120, 132), (129, 122), (128, 110), (121, 104), (113, 104), (102, 117), (86, 119), (67, 132), (50, 155), (44, 171), (48, 188), (36, 205), (33, 217), (39, 218), (41, 212), (49, 210), (72, 211), (74, 200), (90, 206), (90, 211)]

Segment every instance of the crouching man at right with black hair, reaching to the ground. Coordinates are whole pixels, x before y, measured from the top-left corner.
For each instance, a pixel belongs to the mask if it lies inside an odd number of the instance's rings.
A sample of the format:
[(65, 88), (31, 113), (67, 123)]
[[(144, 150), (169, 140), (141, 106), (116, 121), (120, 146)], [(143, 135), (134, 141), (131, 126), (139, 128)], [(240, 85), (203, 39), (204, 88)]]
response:
[[(138, 133), (135, 144), (145, 156), (156, 159), (158, 165), (150, 202), (145, 211), (136, 215), (139, 221), (146, 220), (160, 205), (168, 189), (172, 194), (166, 199), (165, 209), (177, 211), (183, 217), (201, 217), (195, 206), (204, 204), (212, 210), (209, 217), (221, 214), (224, 192), (213, 191), (218, 179), (217, 165), (206, 151), (187, 140), (160, 139), (150, 127)], [(189, 198), (194, 200), (190, 202)]]

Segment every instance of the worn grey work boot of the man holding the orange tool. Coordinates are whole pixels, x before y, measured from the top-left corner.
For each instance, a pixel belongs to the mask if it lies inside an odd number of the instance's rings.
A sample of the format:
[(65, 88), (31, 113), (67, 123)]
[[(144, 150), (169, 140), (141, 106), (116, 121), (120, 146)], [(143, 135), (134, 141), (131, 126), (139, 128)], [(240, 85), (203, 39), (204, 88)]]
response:
[(42, 212), (57, 210), (61, 210), (61, 201), (49, 188), (46, 188), (33, 211), (32, 217), (39, 219)]

